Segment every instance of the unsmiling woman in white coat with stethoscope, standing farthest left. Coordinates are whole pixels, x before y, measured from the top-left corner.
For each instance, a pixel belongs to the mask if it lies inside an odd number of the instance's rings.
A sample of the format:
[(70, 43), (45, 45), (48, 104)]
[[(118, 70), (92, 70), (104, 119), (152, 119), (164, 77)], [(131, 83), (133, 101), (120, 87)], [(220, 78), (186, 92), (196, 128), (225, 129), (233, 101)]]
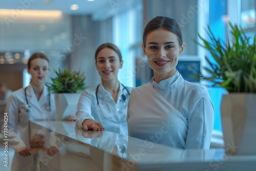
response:
[[(40, 140), (42, 135), (30, 137), (29, 121), (57, 120), (54, 95), (49, 96), (45, 80), (49, 73), (49, 60), (43, 53), (34, 53), (28, 60), (30, 85), (12, 93), (7, 101), (8, 143), (14, 148), (11, 170), (33, 170), (33, 156), (29, 141)], [(2, 129), (4, 135), (4, 127)]]

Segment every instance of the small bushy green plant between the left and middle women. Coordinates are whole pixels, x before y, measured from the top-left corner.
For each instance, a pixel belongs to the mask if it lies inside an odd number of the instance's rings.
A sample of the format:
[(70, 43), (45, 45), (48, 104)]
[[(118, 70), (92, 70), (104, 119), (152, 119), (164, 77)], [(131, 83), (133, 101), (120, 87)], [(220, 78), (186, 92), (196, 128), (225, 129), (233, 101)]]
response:
[(87, 87), (85, 86), (84, 72), (70, 72), (68, 68), (64, 68), (62, 72), (59, 68), (59, 71), (55, 71), (57, 76), (51, 78), (52, 83), (49, 83), (49, 91), (51, 93), (76, 93), (78, 90), (84, 90)]

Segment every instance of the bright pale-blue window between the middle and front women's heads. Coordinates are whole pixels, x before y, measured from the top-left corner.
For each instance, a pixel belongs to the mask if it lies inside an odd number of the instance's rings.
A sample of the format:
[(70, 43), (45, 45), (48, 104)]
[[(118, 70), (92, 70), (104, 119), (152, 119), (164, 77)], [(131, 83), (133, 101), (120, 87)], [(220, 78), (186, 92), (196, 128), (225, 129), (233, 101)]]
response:
[(123, 67), (118, 80), (125, 86), (135, 87), (136, 57), (142, 53), (143, 7), (141, 1), (113, 16), (113, 43), (122, 53)]

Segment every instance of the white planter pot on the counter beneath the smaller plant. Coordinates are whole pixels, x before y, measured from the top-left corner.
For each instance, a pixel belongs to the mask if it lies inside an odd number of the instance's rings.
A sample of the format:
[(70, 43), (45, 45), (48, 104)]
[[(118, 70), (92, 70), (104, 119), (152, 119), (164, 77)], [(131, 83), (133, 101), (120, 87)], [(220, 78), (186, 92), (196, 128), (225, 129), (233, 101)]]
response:
[(55, 94), (55, 105), (58, 120), (67, 120), (69, 115), (75, 115), (80, 93), (57, 93)]

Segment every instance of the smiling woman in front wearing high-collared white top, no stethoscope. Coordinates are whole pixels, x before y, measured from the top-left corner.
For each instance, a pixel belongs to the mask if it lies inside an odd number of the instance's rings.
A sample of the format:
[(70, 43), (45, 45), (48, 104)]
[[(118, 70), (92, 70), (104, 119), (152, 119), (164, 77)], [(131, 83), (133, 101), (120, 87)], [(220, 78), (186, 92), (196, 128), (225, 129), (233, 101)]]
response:
[(144, 29), (142, 48), (154, 77), (131, 93), (129, 136), (177, 148), (208, 149), (214, 106), (205, 88), (184, 80), (176, 70), (185, 48), (176, 20), (153, 18)]

